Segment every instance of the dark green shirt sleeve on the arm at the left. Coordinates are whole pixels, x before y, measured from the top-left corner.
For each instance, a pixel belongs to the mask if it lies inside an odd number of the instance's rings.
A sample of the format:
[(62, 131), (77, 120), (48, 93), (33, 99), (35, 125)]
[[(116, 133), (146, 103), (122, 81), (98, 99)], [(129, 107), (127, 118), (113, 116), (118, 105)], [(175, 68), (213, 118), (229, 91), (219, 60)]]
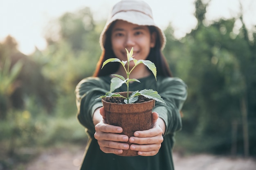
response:
[(92, 121), (93, 113), (98, 107), (102, 107), (99, 97), (105, 95), (109, 88), (110, 86), (106, 82), (95, 77), (85, 78), (76, 86), (76, 116), (89, 134), (95, 132)]

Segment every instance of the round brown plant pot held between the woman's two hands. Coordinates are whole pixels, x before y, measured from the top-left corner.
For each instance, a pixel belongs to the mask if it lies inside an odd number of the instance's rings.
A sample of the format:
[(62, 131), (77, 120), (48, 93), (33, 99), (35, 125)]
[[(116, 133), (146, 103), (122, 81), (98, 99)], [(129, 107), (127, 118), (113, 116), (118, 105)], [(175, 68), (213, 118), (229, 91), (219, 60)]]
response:
[[(127, 96), (127, 92), (119, 92), (122, 96)], [(129, 137), (134, 136), (134, 132), (138, 130), (148, 130), (151, 128), (152, 109), (155, 106), (155, 100), (143, 103), (117, 104), (105, 101), (102, 98), (103, 107), (106, 112), (107, 123), (123, 128), (122, 134)], [(129, 145), (131, 143), (127, 142)], [(135, 150), (124, 150), (120, 156), (137, 156)]]

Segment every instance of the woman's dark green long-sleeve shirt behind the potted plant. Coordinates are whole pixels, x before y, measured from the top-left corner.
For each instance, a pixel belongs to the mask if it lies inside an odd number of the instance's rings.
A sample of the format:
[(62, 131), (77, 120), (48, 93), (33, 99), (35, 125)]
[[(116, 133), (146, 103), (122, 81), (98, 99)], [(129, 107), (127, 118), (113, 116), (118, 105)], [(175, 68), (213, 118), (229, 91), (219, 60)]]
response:
[[(150, 157), (122, 157), (106, 154), (99, 148), (94, 138), (92, 115), (98, 107), (102, 107), (99, 96), (105, 95), (110, 89), (110, 76), (89, 77), (83, 79), (76, 87), (77, 118), (86, 128), (89, 141), (81, 170), (173, 170), (172, 148), (174, 132), (182, 128), (180, 110), (187, 96), (186, 84), (179, 78), (154, 76), (141, 78), (138, 82), (130, 83), (129, 91), (153, 89), (166, 102), (155, 102), (153, 112), (157, 112), (166, 124), (164, 141), (159, 152)], [(123, 85), (116, 92), (126, 91)]]

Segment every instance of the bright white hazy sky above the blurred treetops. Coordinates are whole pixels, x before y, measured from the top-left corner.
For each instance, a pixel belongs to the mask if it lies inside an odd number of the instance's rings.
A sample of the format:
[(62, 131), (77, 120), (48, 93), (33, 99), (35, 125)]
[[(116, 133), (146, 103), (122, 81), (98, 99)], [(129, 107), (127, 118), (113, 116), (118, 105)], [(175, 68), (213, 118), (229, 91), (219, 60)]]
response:
[[(19, 50), (31, 54), (35, 47), (46, 47), (43, 38), (47, 22), (65, 12), (75, 12), (90, 7), (94, 19), (106, 19), (111, 7), (119, 0), (0, 0), (0, 42), (8, 35), (18, 42)], [(180, 38), (196, 26), (193, 16), (195, 0), (145, 0), (153, 10), (155, 22), (165, 29), (169, 22)], [(208, 0), (203, 0), (208, 1)], [(256, 25), (256, 0), (211, 0), (207, 19), (230, 18), (240, 12), (239, 1), (247, 27)]]

